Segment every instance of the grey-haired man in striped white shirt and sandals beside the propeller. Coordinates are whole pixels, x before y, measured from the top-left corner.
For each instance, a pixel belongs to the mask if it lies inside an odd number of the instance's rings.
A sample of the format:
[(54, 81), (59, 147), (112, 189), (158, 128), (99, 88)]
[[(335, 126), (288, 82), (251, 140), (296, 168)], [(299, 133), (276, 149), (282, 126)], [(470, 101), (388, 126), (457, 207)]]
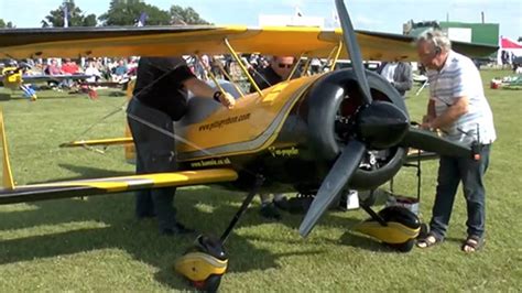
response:
[(446, 139), (472, 145), (474, 158), (441, 156), (437, 191), (429, 234), (417, 242), (421, 248), (444, 240), (458, 184), (463, 182), (468, 237), (463, 251), (480, 248), (485, 234), (486, 191), (483, 175), (491, 143), (497, 134), (493, 116), (483, 94), (480, 73), (472, 61), (452, 51), (452, 43), (439, 31), (428, 31), (416, 42), (421, 63), (428, 69), (429, 101), (424, 129), (439, 129)]

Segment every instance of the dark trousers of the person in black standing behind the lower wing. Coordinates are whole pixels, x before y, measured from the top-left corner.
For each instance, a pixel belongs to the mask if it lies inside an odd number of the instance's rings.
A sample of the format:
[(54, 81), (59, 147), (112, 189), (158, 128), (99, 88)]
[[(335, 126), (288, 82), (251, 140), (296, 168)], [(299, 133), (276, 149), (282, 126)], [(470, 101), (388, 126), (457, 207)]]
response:
[[(127, 112), (160, 129), (174, 133), (171, 117), (150, 108), (138, 99), (129, 102)], [(135, 173), (149, 174), (176, 171), (174, 138), (152, 129), (131, 116), (127, 117), (135, 145)], [(173, 228), (176, 224), (176, 210), (173, 206), (175, 187), (139, 191), (135, 194), (135, 216), (157, 216), (160, 229)]]

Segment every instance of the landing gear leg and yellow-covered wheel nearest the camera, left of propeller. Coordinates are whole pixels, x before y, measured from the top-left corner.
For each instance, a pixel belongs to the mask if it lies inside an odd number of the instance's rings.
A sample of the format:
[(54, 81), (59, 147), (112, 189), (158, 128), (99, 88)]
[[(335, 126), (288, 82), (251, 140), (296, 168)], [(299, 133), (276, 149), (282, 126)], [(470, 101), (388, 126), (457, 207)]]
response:
[(228, 267), (225, 242), (263, 182), (263, 176), (255, 176), (252, 189), (219, 239), (200, 235), (196, 238), (195, 246), (176, 260), (174, 270), (186, 278), (197, 290), (205, 292), (218, 290)]

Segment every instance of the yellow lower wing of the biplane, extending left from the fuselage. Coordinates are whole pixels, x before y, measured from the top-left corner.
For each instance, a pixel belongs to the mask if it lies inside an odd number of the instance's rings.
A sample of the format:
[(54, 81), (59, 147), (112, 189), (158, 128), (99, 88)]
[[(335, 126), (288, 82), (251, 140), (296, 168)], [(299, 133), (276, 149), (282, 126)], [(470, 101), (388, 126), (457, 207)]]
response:
[(14, 186), (0, 189), (0, 205), (65, 198), (87, 195), (121, 193), (166, 186), (188, 186), (218, 182), (231, 182), (238, 174), (230, 169), (208, 169), (146, 175), (80, 180)]

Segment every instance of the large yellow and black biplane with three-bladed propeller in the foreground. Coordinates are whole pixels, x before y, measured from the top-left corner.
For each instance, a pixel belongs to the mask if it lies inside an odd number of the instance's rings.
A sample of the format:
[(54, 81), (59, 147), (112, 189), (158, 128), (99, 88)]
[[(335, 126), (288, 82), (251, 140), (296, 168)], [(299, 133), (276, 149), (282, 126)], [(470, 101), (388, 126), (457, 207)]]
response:
[[(180, 172), (14, 186), (4, 148), (0, 204), (210, 183), (249, 192), (220, 239), (199, 237), (197, 249), (176, 262), (176, 270), (195, 285), (211, 290), (217, 289), (227, 269), (224, 242), (257, 192), (316, 194), (300, 227), (306, 237), (344, 189), (372, 189), (392, 178), (409, 148), (471, 155), (468, 146), (412, 127), (396, 90), (363, 69), (363, 59), (414, 61), (413, 40), (356, 32), (344, 2), (337, 0), (336, 4), (342, 31), (296, 26), (0, 31), (0, 57), (12, 58), (231, 54), (241, 65), (236, 52), (261, 52), (336, 55), (352, 63), (349, 69), (286, 80), (254, 94), (238, 90), (231, 110), (211, 99), (192, 98), (188, 113), (176, 123)], [(454, 50), (480, 56), (497, 47), (456, 42)], [(371, 219), (362, 224), (362, 232), (403, 251), (412, 248), (420, 231), (415, 214), (400, 207), (379, 213), (365, 209)]]

